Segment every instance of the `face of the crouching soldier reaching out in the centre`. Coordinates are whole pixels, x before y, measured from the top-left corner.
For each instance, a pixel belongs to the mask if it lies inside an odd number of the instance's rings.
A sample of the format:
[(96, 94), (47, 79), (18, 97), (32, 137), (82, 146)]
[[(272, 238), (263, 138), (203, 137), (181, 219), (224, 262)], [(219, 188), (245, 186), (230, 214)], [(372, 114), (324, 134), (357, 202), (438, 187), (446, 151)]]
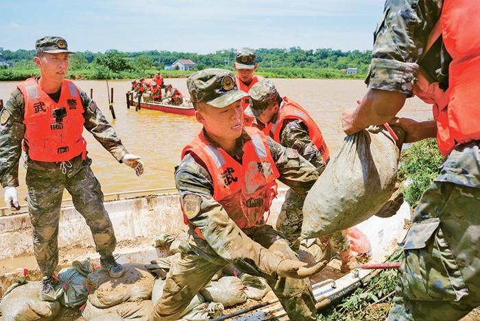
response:
[(241, 136), (243, 108), (240, 100), (224, 108), (203, 104), (195, 115), (204, 125), (208, 136), (215, 140), (236, 140)]

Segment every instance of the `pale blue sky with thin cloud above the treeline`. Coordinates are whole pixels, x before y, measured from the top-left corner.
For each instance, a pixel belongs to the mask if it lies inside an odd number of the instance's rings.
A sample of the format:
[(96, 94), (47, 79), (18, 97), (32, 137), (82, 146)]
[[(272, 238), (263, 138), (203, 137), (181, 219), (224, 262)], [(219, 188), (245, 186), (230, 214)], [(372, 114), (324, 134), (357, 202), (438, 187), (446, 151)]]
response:
[(73, 51), (372, 49), (385, 0), (0, 0), (0, 47), (46, 35)]

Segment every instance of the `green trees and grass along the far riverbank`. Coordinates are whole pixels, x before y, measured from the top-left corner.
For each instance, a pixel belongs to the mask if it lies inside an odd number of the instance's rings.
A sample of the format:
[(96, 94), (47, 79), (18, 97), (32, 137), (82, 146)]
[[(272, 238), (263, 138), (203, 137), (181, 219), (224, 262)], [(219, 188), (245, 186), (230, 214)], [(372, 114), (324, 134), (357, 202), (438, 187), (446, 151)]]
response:
[[(165, 78), (188, 77), (204, 68), (233, 69), (235, 49), (215, 53), (179, 53), (170, 51), (106, 53), (91, 51), (71, 55), (67, 77), (70, 79), (138, 79), (152, 77), (160, 71)], [(34, 50), (2, 51), (3, 59), (12, 66), (0, 67), (0, 81), (18, 81), (38, 75), (33, 58)], [(340, 51), (333, 49), (303, 50), (257, 49), (259, 68), (257, 75), (267, 78), (311, 78), (311, 79), (364, 79), (371, 51)], [(179, 59), (190, 59), (197, 64), (195, 70), (165, 70), (165, 66)], [(358, 73), (347, 75), (346, 68), (358, 68)]]

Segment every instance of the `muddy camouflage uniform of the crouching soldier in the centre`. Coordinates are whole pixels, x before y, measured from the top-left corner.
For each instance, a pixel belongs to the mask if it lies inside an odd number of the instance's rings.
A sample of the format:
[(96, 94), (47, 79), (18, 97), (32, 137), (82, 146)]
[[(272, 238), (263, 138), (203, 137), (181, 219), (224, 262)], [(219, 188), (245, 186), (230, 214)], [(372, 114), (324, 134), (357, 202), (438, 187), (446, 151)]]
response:
[[(203, 94), (191, 88), (189, 92), (192, 99)], [(241, 97), (244, 96), (242, 94)], [(204, 136), (208, 139), (205, 131)], [(241, 159), (246, 140), (250, 140), (250, 136), (243, 131), (237, 139), (235, 159)], [(209, 142), (217, 145), (212, 140)], [(307, 194), (318, 178), (315, 168), (293, 149), (286, 149), (271, 138), (267, 138), (267, 142), (280, 172), (279, 180), (298, 194)], [(150, 320), (177, 320), (193, 296), (227, 264), (234, 264), (248, 274), (264, 277), (291, 320), (316, 320), (315, 299), (309, 279), (277, 276), (280, 261), (296, 259), (296, 253), (291, 251), (288, 242), (266, 224), (240, 229), (213, 198), (213, 179), (199, 162), (202, 163), (188, 154), (176, 166), (176, 187), (190, 223), (190, 250), (173, 262), (163, 296), (158, 300)], [(194, 215), (187, 214), (193, 209)], [(195, 228), (200, 230), (204, 239), (195, 233)]]

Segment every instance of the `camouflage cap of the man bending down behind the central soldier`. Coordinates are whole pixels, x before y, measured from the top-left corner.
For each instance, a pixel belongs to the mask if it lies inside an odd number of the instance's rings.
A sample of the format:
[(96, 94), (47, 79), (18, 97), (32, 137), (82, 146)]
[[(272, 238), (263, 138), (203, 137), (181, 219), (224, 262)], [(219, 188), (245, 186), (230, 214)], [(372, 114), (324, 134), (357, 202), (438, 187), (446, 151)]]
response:
[(272, 81), (263, 79), (258, 81), (248, 91), (252, 103), (245, 109), (245, 114), (258, 117), (265, 108), (278, 99), (278, 92)]

